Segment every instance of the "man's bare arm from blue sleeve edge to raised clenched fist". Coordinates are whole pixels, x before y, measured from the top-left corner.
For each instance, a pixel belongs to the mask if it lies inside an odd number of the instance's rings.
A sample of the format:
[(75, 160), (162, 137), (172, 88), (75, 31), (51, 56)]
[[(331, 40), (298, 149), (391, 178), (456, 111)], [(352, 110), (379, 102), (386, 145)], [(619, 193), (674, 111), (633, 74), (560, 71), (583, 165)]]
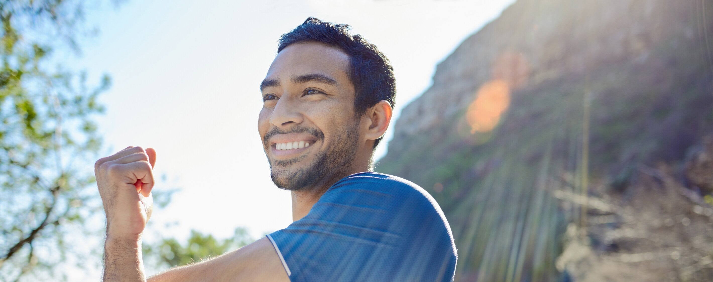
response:
[[(153, 149), (127, 147), (94, 166), (106, 212), (103, 281), (146, 281), (141, 234), (153, 209)], [(282, 261), (263, 237), (250, 245), (190, 266), (173, 268), (149, 281), (289, 281)]]

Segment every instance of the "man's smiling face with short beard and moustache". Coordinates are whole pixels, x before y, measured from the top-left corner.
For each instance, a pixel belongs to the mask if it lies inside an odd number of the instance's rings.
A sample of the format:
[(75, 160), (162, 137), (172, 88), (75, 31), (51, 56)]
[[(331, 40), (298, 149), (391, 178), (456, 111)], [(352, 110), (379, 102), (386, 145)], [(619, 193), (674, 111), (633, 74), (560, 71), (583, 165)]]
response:
[(318, 186), (349, 171), (359, 119), (348, 67), (347, 54), (311, 42), (287, 46), (272, 62), (257, 126), (277, 187)]

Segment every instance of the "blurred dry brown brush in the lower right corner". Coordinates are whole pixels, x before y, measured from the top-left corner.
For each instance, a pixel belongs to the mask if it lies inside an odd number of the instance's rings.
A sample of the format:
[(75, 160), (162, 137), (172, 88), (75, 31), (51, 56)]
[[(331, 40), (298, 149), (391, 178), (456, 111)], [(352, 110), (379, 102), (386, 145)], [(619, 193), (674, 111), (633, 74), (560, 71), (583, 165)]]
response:
[(560, 271), (574, 281), (713, 281), (713, 207), (666, 164), (625, 194), (591, 197), (588, 237), (568, 226)]

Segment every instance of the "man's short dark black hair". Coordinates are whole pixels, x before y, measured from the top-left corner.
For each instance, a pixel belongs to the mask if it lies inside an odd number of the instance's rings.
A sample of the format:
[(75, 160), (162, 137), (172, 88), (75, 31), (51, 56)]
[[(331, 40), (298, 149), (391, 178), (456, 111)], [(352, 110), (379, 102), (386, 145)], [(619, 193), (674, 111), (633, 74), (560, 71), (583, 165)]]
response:
[[(294, 43), (321, 42), (342, 49), (349, 56), (347, 75), (354, 85), (356, 117), (386, 100), (394, 108), (396, 79), (389, 59), (359, 34), (349, 33), (349, 25), (334, 24), (309, 17), (304, 23), (279, 37), (277, 53)], [(381, 139), (374, 141), (374, 148)]]

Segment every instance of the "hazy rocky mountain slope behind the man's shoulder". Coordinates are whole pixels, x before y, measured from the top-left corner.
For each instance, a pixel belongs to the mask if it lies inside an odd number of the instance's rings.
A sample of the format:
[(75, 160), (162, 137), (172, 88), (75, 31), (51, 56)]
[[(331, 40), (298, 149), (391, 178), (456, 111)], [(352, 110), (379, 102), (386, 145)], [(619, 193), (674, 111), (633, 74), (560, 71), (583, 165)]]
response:
[[(647, 217), (602, 207), (645, 206), (632, 201), (655, 189), (645, 183), (661, 167), (708, 199), (685, 167), (711, 132), (713, 1), (519, 0), (438, 65), (376, 171), (410, 179), (441, 204), (458, 281), (596, 281), (562, 257), (568, 229), (595, 258), (638, 258), (629, 235), (600, 235)], [(705, 211), (710, 199), (689, 207)], [(656, 259), (615, 264), (625, 277)], [(713, 278), (711, 267), (675, 278)]]

